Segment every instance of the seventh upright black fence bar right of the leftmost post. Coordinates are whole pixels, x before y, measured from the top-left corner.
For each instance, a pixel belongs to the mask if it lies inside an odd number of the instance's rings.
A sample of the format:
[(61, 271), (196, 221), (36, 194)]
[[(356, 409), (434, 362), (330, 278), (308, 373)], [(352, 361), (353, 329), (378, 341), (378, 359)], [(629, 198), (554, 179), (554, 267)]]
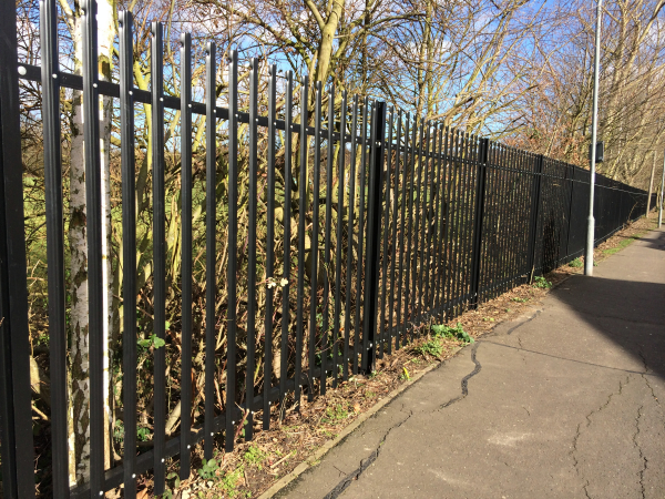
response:
[[(238, 246), (238, 53), (232, 50), (228, 61), (228, 266), (226, 275), (226, 435), (224, 449), (234, 447), (236, 404), (236, 310)], [(207, 419), (207, 418), (206, 418)], [(209, 434), (206, 434), (206, 436)]]

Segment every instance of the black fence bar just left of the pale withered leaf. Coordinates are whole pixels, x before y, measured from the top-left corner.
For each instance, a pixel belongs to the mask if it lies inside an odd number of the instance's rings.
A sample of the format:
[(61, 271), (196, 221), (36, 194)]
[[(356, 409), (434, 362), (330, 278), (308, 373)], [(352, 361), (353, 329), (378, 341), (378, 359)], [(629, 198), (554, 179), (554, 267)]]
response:
[[(264, 336), (264, 388), (263, 388), (263, 429), (270, 428), (270, 389), (273, 388), (273, 301), (275, 299), (275, 119), (277, 104), (277, 65), (272, 64), (268, 73), (268, 151), (267, 182), (268, 197), (266, 200), (266, 317)], [(286, 179), (286, 177), (285, 177)], [(287, 218), (285, 218), (286, 221)], [(285, 247), (288, 244), (285, 240)]]

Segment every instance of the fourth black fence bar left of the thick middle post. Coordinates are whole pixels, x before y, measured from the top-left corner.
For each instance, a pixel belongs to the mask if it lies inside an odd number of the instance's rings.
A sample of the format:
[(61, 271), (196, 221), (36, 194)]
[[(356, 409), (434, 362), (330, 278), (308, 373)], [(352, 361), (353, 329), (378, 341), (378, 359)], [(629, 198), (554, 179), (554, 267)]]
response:
[[(326, 220), (324, 228), (324, 320), (321, 325), (321, 373), (320, 394), (326, 395), (326, 377), (329, 371), (328, 355), (332, 345), (330, 344), (330, 231), (332, 225), (332, 160), (335, 130), (335, 83), (328, 89), (328, 143), (326, 152)], [(344, 154), (344, 151), (341, 151)], [(339, 238), (337, 245), (340, 245)], [(337, 263), (336, 263), (337, 265)], [(335, 373), (335, 371), (334, 371)]]

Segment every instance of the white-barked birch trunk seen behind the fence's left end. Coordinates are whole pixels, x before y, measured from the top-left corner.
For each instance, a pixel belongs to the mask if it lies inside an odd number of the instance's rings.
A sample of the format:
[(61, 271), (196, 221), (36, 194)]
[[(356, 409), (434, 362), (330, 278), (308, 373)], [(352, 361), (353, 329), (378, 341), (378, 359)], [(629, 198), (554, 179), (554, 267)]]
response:
[[(116, 14), (113, 0), (98, 2), (99, 31), (99, 70), (101, 80), (111, 79), (111, 54), (113, 38), (115, 35), (114, 16)], [(82, 19), (75, 12), (74, 32), (71, 33), (74, 45), (74, 72), (82, 71)], [(112, 400), (110, 394), (110, 365), (112, 358), (111, 336), (117, 336), (117, 320), (113, 307), (113, 273), (110, 259), (111, 246), (111, 175), (110, 175), (110, 145), (111, 145), (111, 98), (102, 98), (100, 105), (100, 147), (102, 169), (102, 285), (106, 291), (103, 307), (106, 310), (106, 320), (103, 328), (104, 349), (104, 466), (109, 468), (113, 452), (111, 451), (112, 435)], [(86, 241), (86, 204), (85, 204), (85, 162), (83, 141), (83, 102), (82, 92), (74, 91), (72, 99), (72, 136), (70, 157), (70, 230), (69, 242), (71, 251), (71, 404), (70, 404), (70, 482), (84, 483), (90, 480), (90, 384), (89, 384), (89, 296), (88, 296), (88, 241)], [(115, 333), (115, 334), (112, 334)]]

